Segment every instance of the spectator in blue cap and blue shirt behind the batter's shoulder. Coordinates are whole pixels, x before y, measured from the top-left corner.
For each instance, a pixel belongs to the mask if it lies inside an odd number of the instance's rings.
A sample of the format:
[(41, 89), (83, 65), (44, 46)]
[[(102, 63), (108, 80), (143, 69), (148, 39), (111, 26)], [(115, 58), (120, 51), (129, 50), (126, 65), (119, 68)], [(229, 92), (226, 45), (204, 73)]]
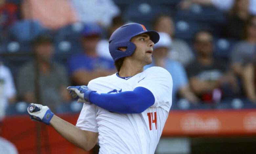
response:
[(72, 56), (68, 62), (69, 75), (75, 85), (88, 85), (92, 79), (116, 72), (114, 61), (101, 57), (96, 52), (101, 32), (102, 29), (97, 24), (84, 26), (81, 38), (84, 50)]

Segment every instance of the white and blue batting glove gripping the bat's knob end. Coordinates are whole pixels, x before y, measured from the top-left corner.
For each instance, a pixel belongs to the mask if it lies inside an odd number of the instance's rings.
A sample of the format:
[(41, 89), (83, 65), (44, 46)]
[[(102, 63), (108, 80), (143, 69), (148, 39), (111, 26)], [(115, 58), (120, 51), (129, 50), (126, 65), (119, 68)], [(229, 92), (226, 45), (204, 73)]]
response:
[(54, 113), (50, 110), (48, 106), (42, 106), (41, 104), (29, 104), (28, 113), (30, 115), (31, 120), (39, 121), (50, 125), (50, 121), (54, 115)]

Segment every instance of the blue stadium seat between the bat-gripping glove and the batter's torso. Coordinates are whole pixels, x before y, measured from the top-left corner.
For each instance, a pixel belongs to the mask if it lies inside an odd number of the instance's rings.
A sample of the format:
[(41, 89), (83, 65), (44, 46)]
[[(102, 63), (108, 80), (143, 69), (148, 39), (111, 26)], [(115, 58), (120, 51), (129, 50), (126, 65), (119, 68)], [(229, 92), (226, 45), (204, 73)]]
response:
[(80, 112), (83, 107), (83, 103), (77, 103), (73, 101), (71, 103), (58, 104), (56, 108), (56, 113), (77, 113)]

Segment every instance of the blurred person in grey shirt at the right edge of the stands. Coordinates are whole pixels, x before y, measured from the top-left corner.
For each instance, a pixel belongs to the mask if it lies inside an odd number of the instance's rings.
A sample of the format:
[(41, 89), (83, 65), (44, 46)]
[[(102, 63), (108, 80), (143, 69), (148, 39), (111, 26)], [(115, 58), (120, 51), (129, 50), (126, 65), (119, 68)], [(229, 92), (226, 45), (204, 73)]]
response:
[(244, 66), (254, 61), (256, 49), (256, 16), (251, 16), (245, 27), (245, 39), (238, 42), (231, 52), (233, 72), (242, 77)]

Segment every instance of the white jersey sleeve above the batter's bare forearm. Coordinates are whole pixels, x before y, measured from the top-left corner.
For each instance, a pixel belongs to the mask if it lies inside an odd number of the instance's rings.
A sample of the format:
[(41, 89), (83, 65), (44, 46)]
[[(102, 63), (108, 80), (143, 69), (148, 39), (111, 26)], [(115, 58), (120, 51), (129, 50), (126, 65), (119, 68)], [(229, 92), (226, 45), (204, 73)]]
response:
[[(88, 84), (88, 87), (89, 86), (90, 86), (90, 83)], [(76, 127), (82, 130), (98, 132), (97, 121), (96, 121), (96, 105), (84, 103), (83, 108), (78, 117)]]

